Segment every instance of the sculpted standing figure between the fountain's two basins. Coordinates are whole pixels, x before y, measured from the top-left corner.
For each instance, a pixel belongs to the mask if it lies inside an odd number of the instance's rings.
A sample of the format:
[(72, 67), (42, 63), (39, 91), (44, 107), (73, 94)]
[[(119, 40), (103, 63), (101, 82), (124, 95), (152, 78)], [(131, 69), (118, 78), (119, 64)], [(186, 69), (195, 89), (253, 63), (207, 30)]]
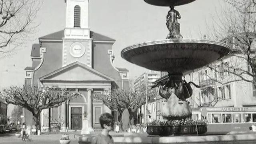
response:
[(183, 36), (180, 34), (180, 24), (178, 23), (178, 19), (180, 18), (180, 13), (174, 9), (174, 6), (170, 6), (170, 10), (166, 16), (166, 26), (170, 32), (166, 39), (183, 38)]

